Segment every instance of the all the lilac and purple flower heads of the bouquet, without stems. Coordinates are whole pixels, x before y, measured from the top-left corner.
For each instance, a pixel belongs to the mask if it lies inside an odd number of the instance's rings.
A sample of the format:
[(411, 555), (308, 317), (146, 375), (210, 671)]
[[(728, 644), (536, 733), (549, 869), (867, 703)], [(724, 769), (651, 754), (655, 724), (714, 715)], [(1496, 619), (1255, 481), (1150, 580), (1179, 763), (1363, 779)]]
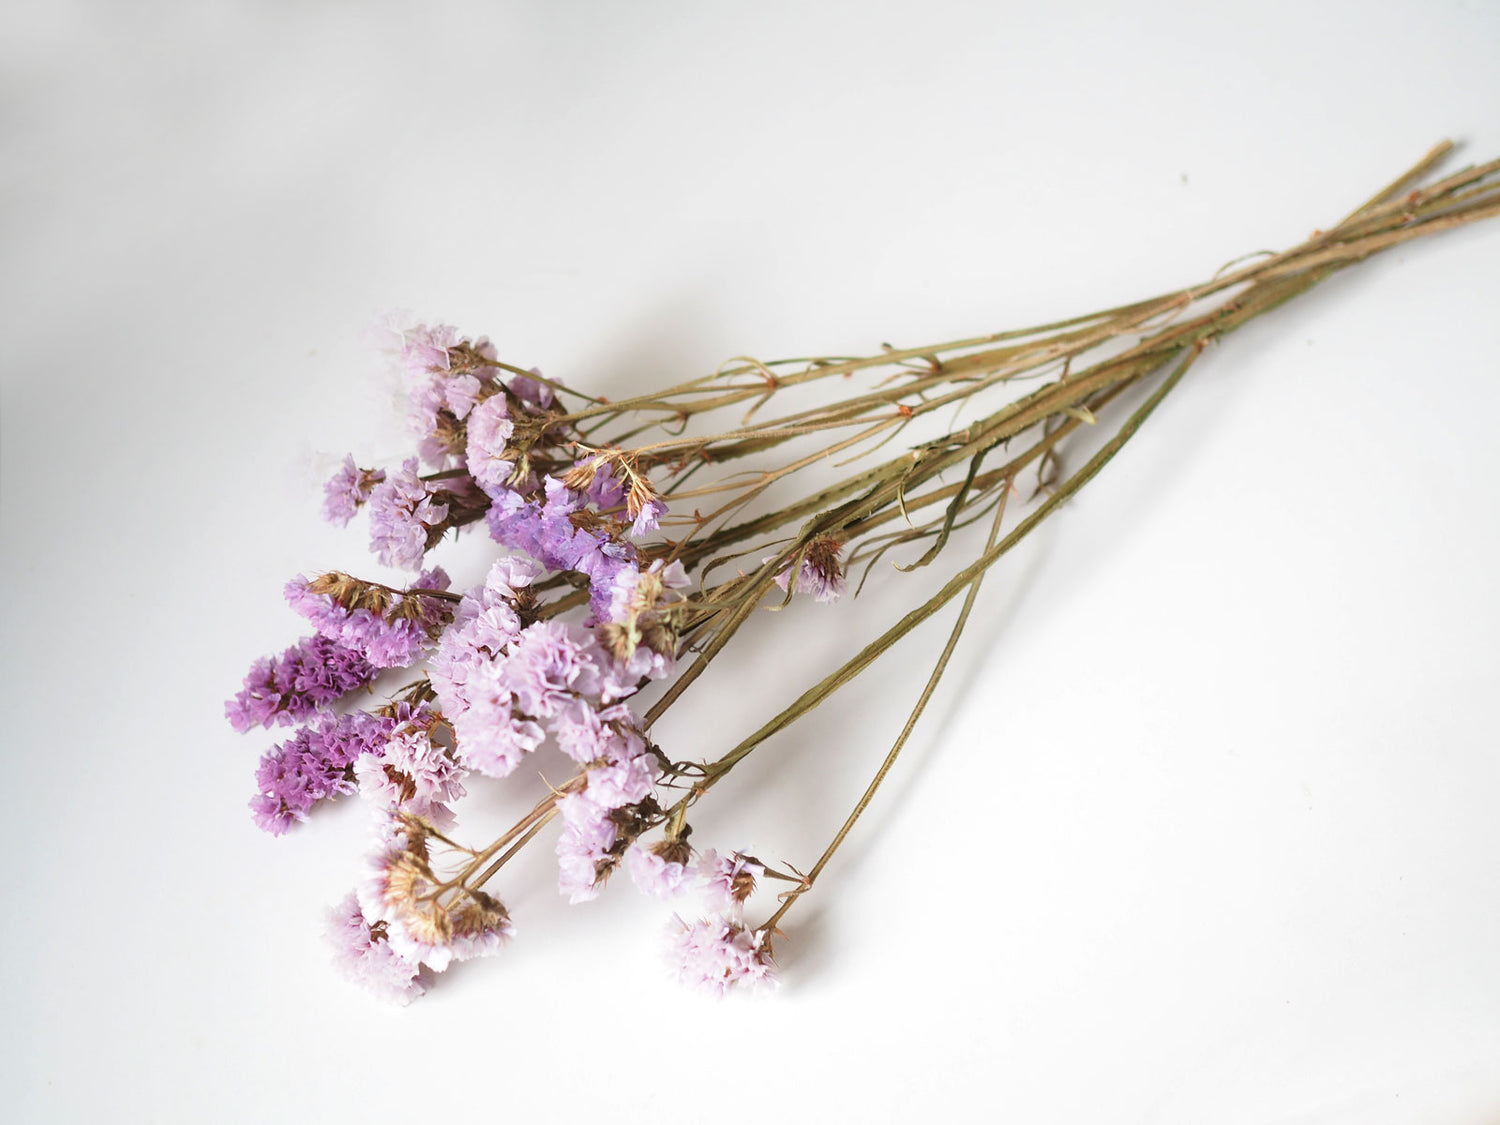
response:
[[(662, 824), (656, 786), (666, 759), (630, 698), (674, 675), (690, 582), (681, 562), (645, 564), (633, 540), (658, 528), (666, 504), (633, 462), (590, 448), (578, 459), (552, 387), (510, 369), (501, 380), (488, 340), (462, 339), (448, 326), (416, 326), (396, 339), (418, 456), (388, 471), (346, 458), (326, 486), (324, 514), (342, 525), (368, 508), (372, 552), (405, 570), (418, 570), (447, 530), (480, 518), (513, 554), (456, 603), (414, 592), (446, 592), (441, 567), (406, 590), (338, 572), (298, 574), (285, 597), (318, 634), (260, 662), (226, 705), (240, 730), (290, 723), (378, 669), (429, 662), (406, 702), (320, 714), (256, 771), (252, 810), (272, 834), (338, 794), (358, 792), (382, 810), (368, 876), (330, 921), (344, 972), (408, 1002), (424, 988), (423, 966), (442, 972), (510, 938), (504, 906), (436, 876), (429, 848), (456, 848), (440, 834), (454, 822), (470, 772), (506, 777), (550, 741), (579, 766), (555, 796), (560, 891), (574, 903), (594, 898), (621, 866), (657, 897), (696, 885), (717, 916), (676, 924), (680, 975), (717, 992), (772, 980), (770, 948), (742, 916), (759, 866), (712, 850), (694, 864), (681, 824), (652, 846), (640, 842)], [(422, 462), (430, 476), (420, 476)], [(795, 588), (819, 597), (842, 590), (837, 555), (837, 544), (808, 549), (795, 561)], [(586, 582), (586, 621), (546, 612), (536, 586), (549, 574)]]

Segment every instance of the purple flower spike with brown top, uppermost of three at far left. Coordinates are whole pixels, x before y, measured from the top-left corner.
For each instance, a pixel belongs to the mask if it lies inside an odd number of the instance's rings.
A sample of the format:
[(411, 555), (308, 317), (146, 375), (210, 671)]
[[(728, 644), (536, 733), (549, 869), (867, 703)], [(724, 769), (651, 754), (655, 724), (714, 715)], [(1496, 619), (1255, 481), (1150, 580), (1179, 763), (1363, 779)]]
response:
[[(326, 576), (328, 578), (328, 576)], [(422, 572), (414, 590), (447, 590), (452, 580), (442, 567)], [(320, 582), (316, 592), (297, 574), (286, 584), (286, 603), (316, 627), (321, 636), (352, 648), (375, 668), (408, 668), (426, 654), (448, 620), (448, 604), (442, 598), (420, 594), (394, 594), (380, 609), (350, 606), (340, 600), (340, 585), (350, 590), (351, 602), (366, 592), (362, 584)]]

